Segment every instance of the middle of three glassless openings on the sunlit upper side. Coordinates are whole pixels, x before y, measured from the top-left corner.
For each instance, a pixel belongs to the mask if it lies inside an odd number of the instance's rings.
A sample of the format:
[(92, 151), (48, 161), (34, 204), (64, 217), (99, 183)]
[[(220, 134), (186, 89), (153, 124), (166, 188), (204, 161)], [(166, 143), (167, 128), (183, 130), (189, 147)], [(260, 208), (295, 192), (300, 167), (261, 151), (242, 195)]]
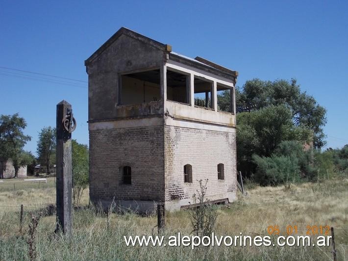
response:
[(194, 88), (195, 105), (199, 107), (213, 108), (213, 82), (195, 77)]

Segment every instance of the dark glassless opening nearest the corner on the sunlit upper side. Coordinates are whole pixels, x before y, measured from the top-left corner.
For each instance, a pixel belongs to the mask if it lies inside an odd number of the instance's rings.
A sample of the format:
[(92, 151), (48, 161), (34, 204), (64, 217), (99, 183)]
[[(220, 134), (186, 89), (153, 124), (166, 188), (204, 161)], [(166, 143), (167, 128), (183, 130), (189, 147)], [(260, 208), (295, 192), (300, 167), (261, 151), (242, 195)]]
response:
[(190, 104), (189, 75), (174, 72), (167, 68), (167, 100)]

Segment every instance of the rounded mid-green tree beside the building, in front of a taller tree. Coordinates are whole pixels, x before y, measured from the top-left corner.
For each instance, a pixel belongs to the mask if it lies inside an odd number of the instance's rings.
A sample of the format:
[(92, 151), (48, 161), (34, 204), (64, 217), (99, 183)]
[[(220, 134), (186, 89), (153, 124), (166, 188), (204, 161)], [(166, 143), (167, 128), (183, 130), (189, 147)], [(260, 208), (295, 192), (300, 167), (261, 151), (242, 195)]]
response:
[(284, 140), (302, 144), (312, 132), (293, 124), (291, 109), (285, 105), (270, 105), (256, 111), (237, 114), (237, 168), (254, 172), (252, 155), (270, 157)]

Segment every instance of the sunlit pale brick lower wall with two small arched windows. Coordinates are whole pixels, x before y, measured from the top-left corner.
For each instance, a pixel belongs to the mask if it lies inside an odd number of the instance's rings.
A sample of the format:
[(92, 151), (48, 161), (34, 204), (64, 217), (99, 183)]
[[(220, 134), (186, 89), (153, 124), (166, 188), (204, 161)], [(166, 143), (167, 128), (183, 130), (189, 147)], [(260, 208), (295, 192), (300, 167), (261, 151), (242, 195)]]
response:
[[(236, 134), (165, 126), (166, 201), (192, 203), (199, 189), (198, 180), (208, 179), (210, 200), (236, 193)], [(218, 180), (217, 165), (224, 164), (224, 180)], [(184, 183), (185, 164), (192, 165), (193, 183)], [(229, 193), (227, 193), (229, 192)]]

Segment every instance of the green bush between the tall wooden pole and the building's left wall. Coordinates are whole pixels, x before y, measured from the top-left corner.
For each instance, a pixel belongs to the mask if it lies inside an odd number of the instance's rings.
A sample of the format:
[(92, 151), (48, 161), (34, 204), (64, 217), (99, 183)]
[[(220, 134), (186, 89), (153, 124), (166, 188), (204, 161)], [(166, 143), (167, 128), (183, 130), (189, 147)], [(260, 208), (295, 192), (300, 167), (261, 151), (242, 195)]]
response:
[(74, 203), (79, 205), (81, 196), (89, 183), (88, 146), (72, 140)]

